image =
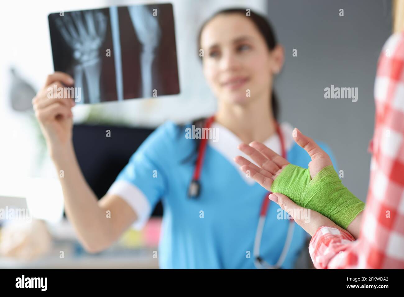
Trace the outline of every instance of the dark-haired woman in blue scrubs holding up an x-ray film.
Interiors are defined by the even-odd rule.
[[[202,26],[199,43],[218,100],[217,113],[202,123],[215,139],[186,137],[194,123],[164,123],[99,201],[72,145],[74,100],[46,96],[48,87],[74,81],[60,72],[47,77],[33,105],[57,172],[65,173],[67,216],[83,247],[96,253],[133,223],[142,228],[161,199],[160,268],[293,268],[307,233],[233,160],[238,144],[255,140],[307,168],[310,157],[293,141],[292,126],[276,121],[273,77],[282,69],[283,48],[265,18],[243,9],[216,13]]]

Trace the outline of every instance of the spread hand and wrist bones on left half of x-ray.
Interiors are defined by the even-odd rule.
[[[71,16],[70,16],[71,15]],[[101,11],[75,11],[56,19],[65,42],[73,50],[75,87],[81,88],[80,100],[87,90],[88,101],[100,102],[101,58],[99,48],[105,39],[107,18]],[[84,86],[84,77],[86,86]]]

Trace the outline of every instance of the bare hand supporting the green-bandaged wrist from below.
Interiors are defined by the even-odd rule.
[[[291,199],[289,199],[289,197],[281,193],[272,193],[271,195],[269,195],[269,199],[271,199],[275,203],[278,203],[278,205],[284,211],[286,211],[293,218],[293,220],[311,236],[314,236],[318,228],[322,226],[338,228],[339,230],[349,233],[347,230],[344,230],[321,213],[318,213],[313,209],[301,207],[293,202]]]

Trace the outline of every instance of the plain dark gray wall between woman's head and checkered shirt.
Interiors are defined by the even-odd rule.
[[[391,34],[391,1],[273,0],[268,9],[286,54],[275,82],[280,120],[326,142],[344,170],[343,184],[364,201],[375,116],[373,86],[377,59]],[[332,84],[357,87],[358,101],[324,99],[324,88]]]

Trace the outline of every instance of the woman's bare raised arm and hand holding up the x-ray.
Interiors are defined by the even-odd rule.
[[[98,201],[88,186],[72,143],[72,107],[74,98],[56,98],[49,88],[72,86],[73,78],[62,72],[48,75],[38,94],[32,99],[36,117],[45,137],[50,157],[57,169],[65,201],[65,211],[78,239],[88,252],[109,247],[137,219],[136,213],[117,195],[107,194]],[[119,213],[107,218],[106,211]]]

